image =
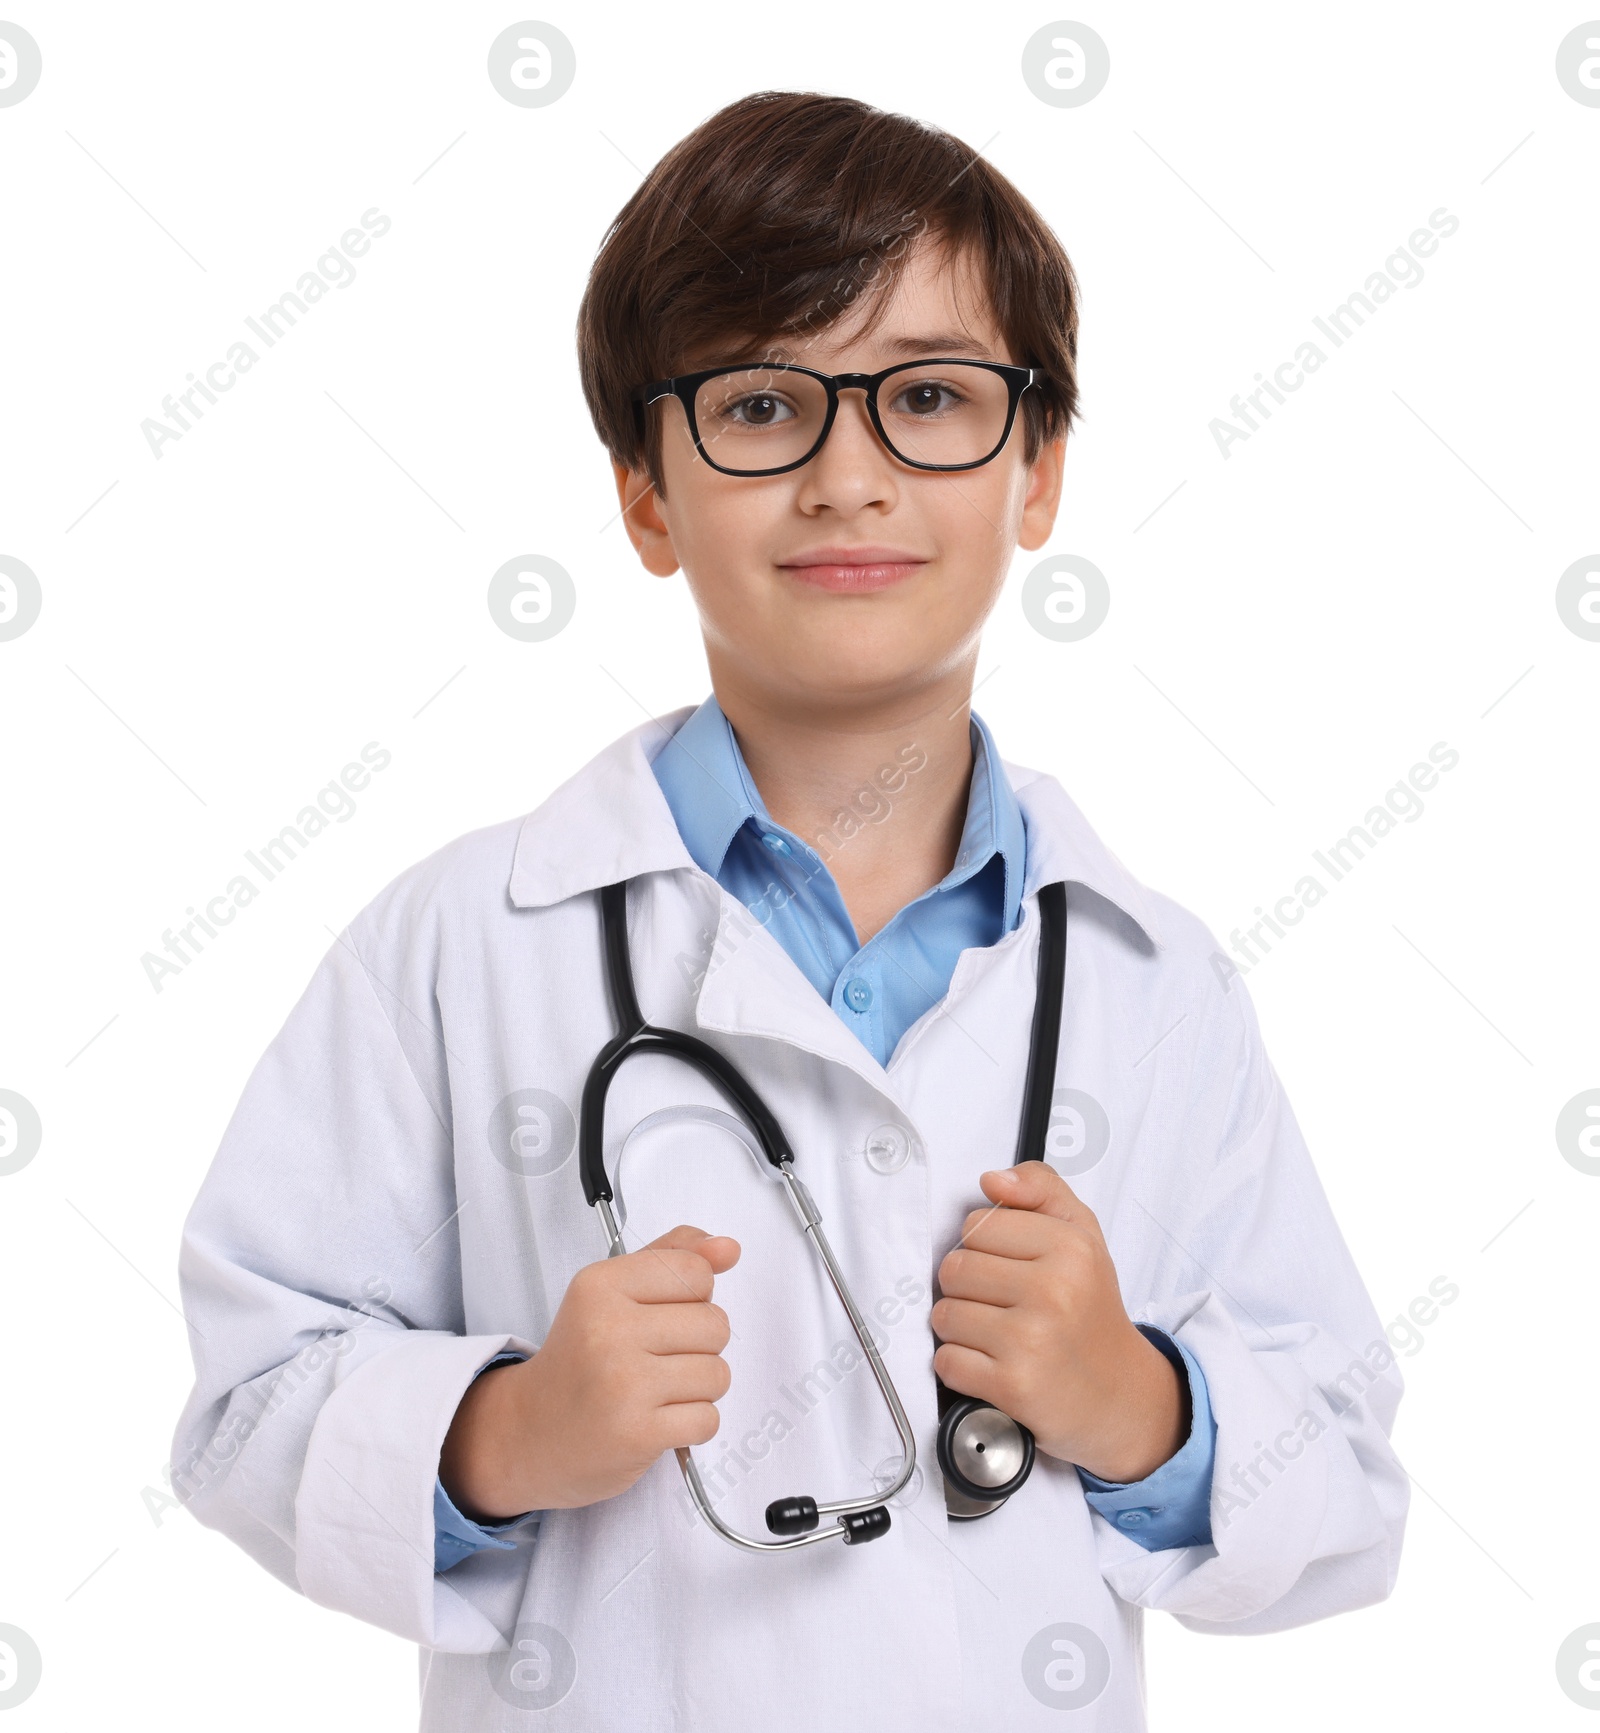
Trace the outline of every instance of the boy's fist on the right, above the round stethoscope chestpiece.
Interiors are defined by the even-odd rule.
[[[1044,1161],[979,1180],[940,1263],[933,1369],[1021,1421],[1047,1456],[1142,1480],[1189,1435],[1189,1392],[1128,1321],[1101,1223]]]

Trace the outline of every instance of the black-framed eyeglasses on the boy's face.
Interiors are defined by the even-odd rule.
[[[1042,381],[1038,369],[1000,360],[936,357],[882,373],[770,362],[654,380],[633,397],[641,430],[647,404],[676,397],[695,451],[723,475],[784,475],[810,463],[839,414],[839,392],[867,393],[877,437],[914,470],[976,470],[998,456],[1023,392]]]

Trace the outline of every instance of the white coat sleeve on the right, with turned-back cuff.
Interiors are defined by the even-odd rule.
[[[1123,1600],[1245,1634],[1383,1600],[1409,1483],[1389,1442],[1401,1374],[1243,983],[1207,1028],[1187,1116],[1203,1178],[1187,1208],[1177,1184],[1130,1208],[1160,1246],[1135,1322],[1182,1343],[1207,1379],[1210,1544],[1148,1553],[1101,1515],[1094,1529]]]

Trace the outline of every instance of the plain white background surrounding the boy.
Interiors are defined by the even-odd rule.
[[[1153,1724],[1584,1724],[1555,1652],[1600,1620],[1600,1178],[1553,1126],[1600,1085],[1600,643],[1555,582],[1600,544],[1600,109],[1555,50],[1590,14],[560,7],[532,16],[577,78],[544,109],[485,75],[504,7],[5,16],[43,52],[0,109],[0,553],[43,587],[0,643],[0,1087],[43,1120],[0,1178],[0,1624],[45,1657],[14,1724],[414,1723],[407,1645],[149,1490],[189,1381],[179,1230],[333,932],[709,690],[681,581],[614,522],[572,326],[641,172],[771,85],[955,132],[1080,272],[1047,553],[1111,613],[1045,639],[1019,556],[978,695],[1007,757],[1226,944],[1460,752],[1248,977],[1382,1317],[1460,1288],[1401,1360],[1399,1587],[1272,1638],[1151,1619]],[[1063,16],[1111,52],[1078,109],[1019,73]],[[140,421],[371,206],[359,277],[153,458]],[[1224,459],[1212,418],[1441,206],[1425,281]],[[522,553],[577,584],[548,643],[485,607]],[[140,957],[369,740],[393,763],[357,815],[156,993]]]

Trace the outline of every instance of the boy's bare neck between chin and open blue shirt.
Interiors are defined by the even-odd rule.
[[[712,664],[768,813],[822,856],[865,944],[955,865],[972,782],[972,664],[915,693],[796,705]]]

